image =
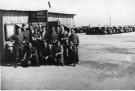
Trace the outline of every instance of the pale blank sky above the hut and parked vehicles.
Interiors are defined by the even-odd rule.
[[[135,25],[135,0],[0,0],[0,9],[52,9],[76,14],[75,25]]]

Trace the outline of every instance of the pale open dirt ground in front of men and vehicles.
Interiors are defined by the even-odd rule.
[[[1,66],[4,90],[135,89],[135,32],[80,37],[80,64],[73,66]]]

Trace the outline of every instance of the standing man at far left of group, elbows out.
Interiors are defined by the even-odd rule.
[[[9,40],[11,42],[14,42],[13,48],[14,48],[14,54],[15,54],[15,68],[17,67],[18,61],[22,59],[23,57],[23,49],[25,39],[28,39],[28,36],[24,35],[24,33],[21,32],[21,28],[18,28],[16,31],[16,34],[13,34],[11,37],[9,37]]]

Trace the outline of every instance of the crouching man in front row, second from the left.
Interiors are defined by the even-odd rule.
[[[40,52],[40,57],[42,59],[41,64],[42,63],[43,64],[51,64],[51,62],[52,62],[52,48],[46,41],[44,41],[44,43],[43,43],[43,48]]]

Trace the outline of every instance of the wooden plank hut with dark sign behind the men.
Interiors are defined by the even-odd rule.
[[[47,27],[54,25],[55,23],[60,24],[70,24],[74,25],[74,16],[75,14],[59,12],[55,10],[3,10],[0,9],[0,61],[6,61],[6,58],[10,58],[8,54],[6,54],[6,50],[11,50],[12,53],[12,43],[7,41],[7,38],[13,34],[13,30],[15,25],[21,26],[22,24],[30,23],[30,13],[31,12],[42,12],[47,11],[44,21]],[[41,18],[39,16],[39,18]],[[35,19],[35,22],[43,22],[42,18],[39,21]],[[7,48],[7,49],[6,49]],[[8,51],[7,51],[8,52]],[[9,52],[8,52],[9,53]]]

